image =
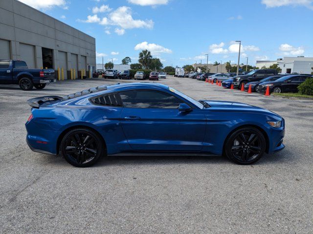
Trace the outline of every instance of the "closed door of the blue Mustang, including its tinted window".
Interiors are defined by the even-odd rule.
[[[156,90],[120,92],[122,129],[131,148],[144,151],[201,151],[205,116],[201,109],[180,112],[184,101]]]

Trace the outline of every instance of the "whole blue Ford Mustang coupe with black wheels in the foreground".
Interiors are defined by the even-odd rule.
[[[116,154],[226,155],[239,164],[282,150],[284,119],[238,102],[196,101],[156,83],[103,85],[27,101],[26,141],[87,167]]]

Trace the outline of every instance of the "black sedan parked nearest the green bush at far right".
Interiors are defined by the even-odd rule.
[[[275,81],[267,81],[260,83],[256,87],[258,93],[266,92],[269,87],[270,93],[288,93],[288,92],[298,92],[298,86],[303,83],[307,78],[312,78],[312,76],[303,75],[291,75],[285,76]]]

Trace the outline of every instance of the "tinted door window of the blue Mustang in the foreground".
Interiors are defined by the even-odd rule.
[[[172,95],[153,90],[131,90],[119,93],[124,107],[177,109],[182,103]]]

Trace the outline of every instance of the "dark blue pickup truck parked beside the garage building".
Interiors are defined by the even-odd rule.
[[[0,60],[0,84],[18,84],[22,90],[31,90],[55,81],[53,69],[30,69],[21,60]]]

